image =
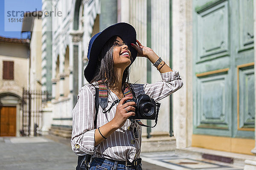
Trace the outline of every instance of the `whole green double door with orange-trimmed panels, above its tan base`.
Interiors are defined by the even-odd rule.
[[[193,0],[193,133],[254,138],[253,0]]]

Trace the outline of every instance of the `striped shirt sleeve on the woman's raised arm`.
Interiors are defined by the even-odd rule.
[[[163,99],[183,86],[183,81],[180,78],[179,71],[173,70],[160,74],[162,81],[155,83],[133,84],[132,87],[136,91],[136,96],[139,94],[147,94],[156,102]]]

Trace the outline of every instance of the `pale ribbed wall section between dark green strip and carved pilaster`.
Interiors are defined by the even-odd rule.
[[[170,23],[169,23],[169,0],[151,0],[151,49],[160,56],[167,65],[170,59]],[[160,72],[151,64],[151,82],[162,80]],[[166,132],[169,134],[169,99],[166,97],[159,102],[160,113],[157,126],[151,129],[151,133]]]

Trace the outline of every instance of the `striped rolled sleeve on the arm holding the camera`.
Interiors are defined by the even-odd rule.
[[[86,85],[79,89],[77,103],[72,111],[73,126],[71,147],[76,155],[92,155],[95,152],[95,93]]]

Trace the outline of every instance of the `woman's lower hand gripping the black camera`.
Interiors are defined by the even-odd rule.
[[[122,127],[128,117],[130,116],[135,116],[135,108],[132,105],[136,105],[135,102],[127,102],[124,104],[124,102],[128,99],[131,99],[131,97],[124,97],[120,100],[119,104],[116,106],[116,115],[115,117],[111,120],[113,122],[113,125],[116,126],[116,128]],[[131,112],[127,112],[131,111]]]

